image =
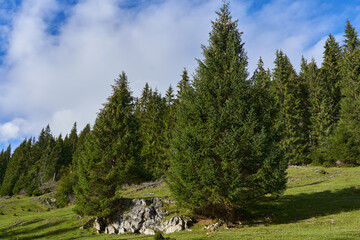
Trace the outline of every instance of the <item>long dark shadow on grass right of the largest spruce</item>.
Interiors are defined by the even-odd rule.
[[[358,209],[360,189],[351,187],[333,192],[285,195],[276,201],[258,206],[255,215],[258,220],[264,219],[267,214],[275,215],[272,223],[284,224]]]

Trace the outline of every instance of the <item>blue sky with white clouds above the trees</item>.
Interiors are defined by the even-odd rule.
[[[208,44],[221,0],[0,0],[0,148],[50,125],[58,136],[93,124],[125,71],[134,96],[146,82],[161,93],[190,74]],[[295,69],[321,66],[331,33],[358,30],[355,0],[230,0],[249,58],[272,69],[277,49]]]

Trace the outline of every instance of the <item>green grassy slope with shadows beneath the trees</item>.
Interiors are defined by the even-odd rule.
[[[252,210],[254,218],[237,228],[169,234],[176,239],[360,239],[360,168],[291,168],[285,194]],[[169,196],[165,185],[131,192],[128,197]],[[34,197],[0,200],[0,239],[153,239],[143,235],[96,234],[80,230],[72,207],[48,211]],[[272,221],[265,221],[274,213]]]

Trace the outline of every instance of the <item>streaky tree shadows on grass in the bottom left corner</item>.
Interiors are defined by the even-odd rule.
[[[58,236],[74,230],[76,227],[54,229],[64,221],[46,222],[47,220],[34,219],[29,222],[12,224],[8,228],[0,229],[0,236],[4,239],[38,239],[44,237]],[[41,222],[44,222],[41,224]],[[35,225],[34,225],[35,224]],[[40,224],[40,225],[39,225]],[[37,234],[41,232],[40,234]]]

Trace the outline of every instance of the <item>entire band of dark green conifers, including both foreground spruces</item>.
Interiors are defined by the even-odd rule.
[[[212,22],[203,60],[190,80],[162,95],[145,85],[135,98],[123,72],[91,128],[54,137],[50,127],[0,153],[0,195],[40,194],[59,181],[65,206],[113,216],[124,184],[166,178],[178,201],[208,216],[234,219],[239,209],[279,195],[288,164],[360,164],[360,42],[346,22],[344,41],[329,35],[323,62],[301,59],[296,72],[276,51],[274,69],[248,59],[228,4]]]

